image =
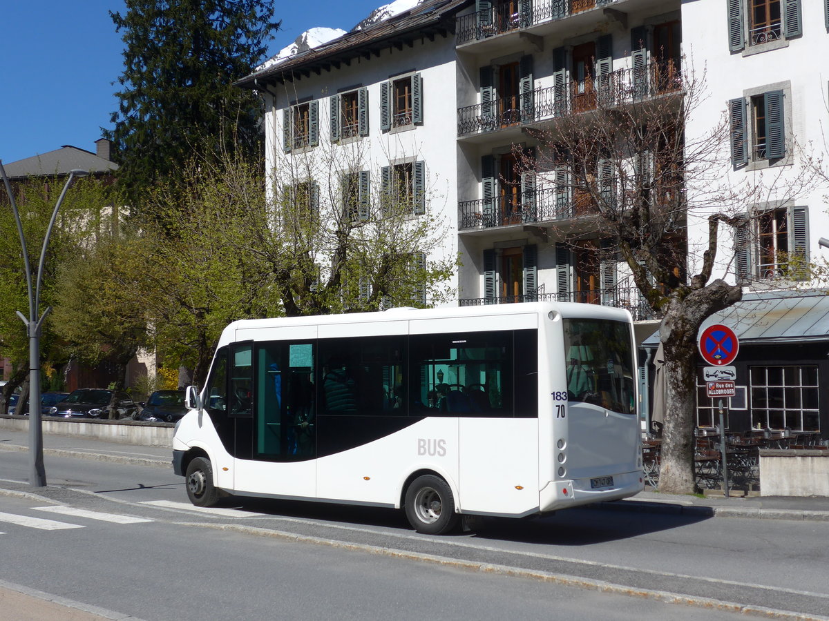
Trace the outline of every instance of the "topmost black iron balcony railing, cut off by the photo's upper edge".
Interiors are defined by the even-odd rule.
[[[492,7],[462,15],[455,20],[456,45],[551,22],[574,13],[613,4],[616,0],[511,0],[492,2]]]

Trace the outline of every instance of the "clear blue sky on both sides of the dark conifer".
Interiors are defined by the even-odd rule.
[[[269,55],[314,26],[348,30],[390,0],[277,0],[282,30]],[[65,144],[95,152],[111,128],[113,93],[124,68],[121,35],[109,11],[123,0],[8,0],[0,19],[0,160],[5,163]],[[264,60],[264,59],[263,59]],[[233,76],[237,78],[240,76]]]

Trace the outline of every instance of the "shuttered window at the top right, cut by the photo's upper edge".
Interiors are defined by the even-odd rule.
[[[768,44],[802,35],[800,5],[801,0],[728,0],[729,50],[748,46],[762,51]]]

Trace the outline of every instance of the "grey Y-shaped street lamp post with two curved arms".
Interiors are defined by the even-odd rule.
[[[49,245],[51,231],[57,219],[57,211],[61,208],[66,190],[69,190],[69,186],[75,177],[82,177],[88,174],[87,171],[77,169],[69,172],[69,178],[66,179],[63,190],[61,190],[61,195],[58,197],[55,209],[52,209],[49,226],[46,228],[46,235],[43,238],[41,259],[37,264],[35,285],[32,286],[32,265],[29,262],[29,253],[26,248],[26,238],[23,235],[20,213],[17,211],[17,203],[14,200],[14,195],[12,195],[12,186],[9,185],[6,169],[3,168],[2,161],[0,161],[0,175],[2,175],[3,184],[6,185],[8,200],[12,204],[12,212],[17,223],[17,234],[20,236],[20,246],[23,251],[23,265],[26,267],[26,286],[29,295],[28,319],[19,310],[17,311],[17,316],[26,325],[27,335],[29,337],[29,463],[31,466],[29,471],[29,484],[32,487],[41,488],[46,485],[46,468],[43,466],[43,426],[41,421],[41,328],[43,326],[43,320],[51,312],[51,306],[48,306],[43,311],[43,315],[38,316],[41,282],[43,281],[43,265],[46,262],[46,247]]]

